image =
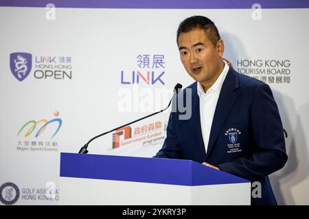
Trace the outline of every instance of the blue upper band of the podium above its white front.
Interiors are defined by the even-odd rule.
[[[170,185],[216,185],[249,181],[185,159],[61,153],[60,177]]]

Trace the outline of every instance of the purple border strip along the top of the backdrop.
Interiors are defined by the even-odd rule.
[[[157,8],[157,9],[244,9],[253,3],[262,8],[309,8],[308,0],[0,0],[0,6],[56,8]]]

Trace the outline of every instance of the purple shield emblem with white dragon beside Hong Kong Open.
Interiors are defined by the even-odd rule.
[[[19,81],[23,81],[32,68],[32,55],[30,53],[10,53],[11,72]]]

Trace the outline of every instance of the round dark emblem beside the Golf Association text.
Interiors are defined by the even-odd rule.
[[[13,205],[19,200],[19,188],[14,183],[4,183],[0,187],[0,201],[5,205]]]

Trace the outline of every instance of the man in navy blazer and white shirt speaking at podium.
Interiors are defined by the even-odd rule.
[[[191,159],[258,181],[262,194],[251,196],[251,205],[276,205],[268,175],[288,157],[271,88],[227,66],[223,41],[209,18],[186,18],[179,25],[177,44],[183,66],[196,81],[177,98],[183,96],[185,103],[191,98],[192,115],[183,120],[181,112],[170,113],[167,137],[155,157]]]

